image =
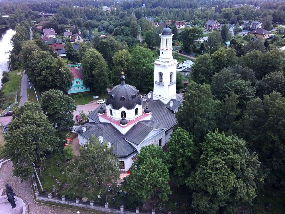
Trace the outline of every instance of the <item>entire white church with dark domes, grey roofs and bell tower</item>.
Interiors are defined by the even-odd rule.
[[[176,94],[176,65],[172,57],[172,32],[164,28],[160,34],[160,56],[154,61],[153,92],[141,98],[139,90],[125,82],[108,92],[105,104],[93,110],[89,122],[78,129],[79,144],[95,136],[99,143],[113,147],[112,153],[127,172],[143,146],[165,146],[177,123],[175,112],[182,104]]]

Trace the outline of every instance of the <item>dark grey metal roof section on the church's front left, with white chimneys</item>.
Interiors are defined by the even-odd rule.
[[[82,127],[86,128],[85,132],[82,132]],[[87,139],[92,135],[97,138],[102,136],[103,142],[110,142],[114,146],[112,153],[115,156],[127,157],[137,152],[131,144],[122,138],[123,134],[110,123],[86,123],[78,129],[78,134]]]

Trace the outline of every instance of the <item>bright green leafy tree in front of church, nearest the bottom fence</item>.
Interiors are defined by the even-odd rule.
[[[166,153],[159,146],[148,145],[141,148],[137,160],[132,164],[129,177],[125,177],[126,191],[131,193],[130,198],[137,201],[146,201],[156,191],[160,191],[159,198],[168,201],[171,194],[168,185],[168,165],[164,162]]]

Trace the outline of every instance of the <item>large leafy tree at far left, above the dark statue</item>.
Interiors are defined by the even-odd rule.
[[[42,177],[46,156],[56,151],[61,143],[54,133],[54,127],[38,104],[26,102],[15,110],[4,146],[13,162],[14,176],[21,177],[22,181],[28,179],[34,173],[34,163]]]

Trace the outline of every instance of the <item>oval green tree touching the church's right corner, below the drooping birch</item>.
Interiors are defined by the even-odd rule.
[[[167,149],[167,162],[174,176],[173,182],[179,187],[190,176],[198,158],[198,150],[192,136],[180,127],[172,132]]]

